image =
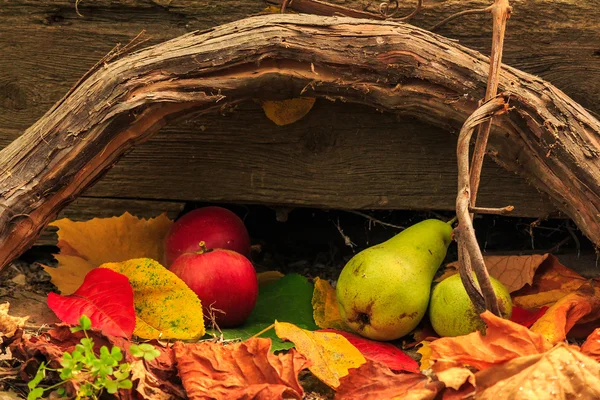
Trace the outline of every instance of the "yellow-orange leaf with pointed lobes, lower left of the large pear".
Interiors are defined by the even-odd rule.
[[[340,378],[348,375],[350,368],[358,368],[366,362],[360,351],[337,333],[311,332],[277,321],[275,332],[281,339],[293,342],[296,350],[312,361],[308,368],[310,372],[334,389],[340,385]]]

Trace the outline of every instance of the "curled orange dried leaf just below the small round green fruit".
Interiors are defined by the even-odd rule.
[[[489,311],[481,314],[481,318],[487,325],[485,336],[477,331],[429,344],[436,371],[442,370],[435,368],[438,363],[447,367],[466,364],[481,370],[513,358],[543,353],[551,347],[542,335]]]

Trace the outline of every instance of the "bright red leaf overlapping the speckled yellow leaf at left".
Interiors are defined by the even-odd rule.
[[[48,307],[70,325],[79,324],[79,318],[86,315],[94,329],[110,336],[131,338],[135,328],[129,279],[108,268],[90,271],[79,289],[69,296],[49,293]]]

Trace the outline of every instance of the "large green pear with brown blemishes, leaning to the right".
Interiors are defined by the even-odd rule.
[[[352,257],[336,286],[344,322],[375,340],[412,331],[427,311],[431,282],[451,241],[450,223],[428,219]]]

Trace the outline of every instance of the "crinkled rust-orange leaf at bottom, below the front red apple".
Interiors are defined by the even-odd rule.
[[[190,399],[301,399],[298,373],[310,362],[294,349],[270,352],[271,339],[224,346],[203,342],[173,346],[179,375]]]

